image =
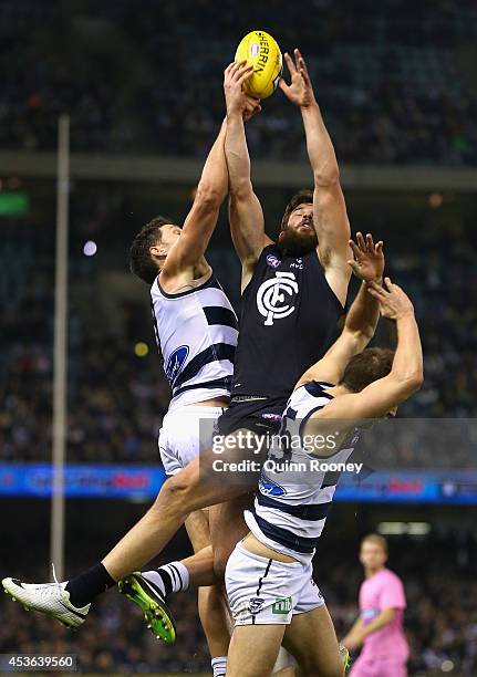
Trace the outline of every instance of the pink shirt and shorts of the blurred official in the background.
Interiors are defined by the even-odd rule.
[[[353,675],[360,675],[360,667],[366,664],[369,670],[371,666],[377,668],[380,677],[406,675],[408,646],[403,629],[406,597],[401,579],[388,569],[366,579],[360,589],[360,617],[365,625],[385,608],[395,608],[397,613],[391,623],[365,638]],[[369,677],[372,675],[374,671],[370,670]]]

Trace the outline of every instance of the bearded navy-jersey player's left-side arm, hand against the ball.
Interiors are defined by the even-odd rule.
[[[260,253],[271,240],[265,233],[263,212],[253,192],[250,178],[250,157],[243,125],[243,107],[247,97],[242,82],[252,69],[243,69],[243,62],[230,64],[224,74],[227,105],[226,160],[229,173],[229,219],[237,254],[242,264],[242,289],[253,274]]]

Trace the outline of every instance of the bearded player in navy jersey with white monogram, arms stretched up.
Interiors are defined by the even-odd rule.
[[[263,212],[250,179],[240,110],[243,94],[225,79],[226,158],[230,227],[242,264],[239,341],[232,398],[219,418],[221,434],[273,431],[304,369],[329,347],[346,301],[351,269],[350,223],[333,144],[324,126],[305,62],[284,54],[291,83],[280,87],[299,107],[314,190],[292,197],[280,219],[278,242],[265,232]],[[218,572],[246,532],[243,499],[212,509]]]

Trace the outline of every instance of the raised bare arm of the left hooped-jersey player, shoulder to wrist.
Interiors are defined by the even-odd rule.
[[[205,254],[217,223],[220,205],[227,195],[228,174],[224,150],[226,129],[227,123],[224,121],[204,165],[182,236],[167,256],[160,273],[163,280],[194,269]]]

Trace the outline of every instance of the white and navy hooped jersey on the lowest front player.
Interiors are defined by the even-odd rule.
[[[340,464],[341,467],[359,439],[353,428],[336,446],[336,451],[326,457],[304,449],[304,426],[313,413],[332,399],[326,395],[330,387],[331,384],[310,382],[292,393],[283,412],[280,435],[300,444],[291,445],[273,464],[269,464],[273,454],[269,456],[253,509],[245,512],[247,525],[259,541],[301,562],[310,561],[315,552],[340,478],[339,471],[321,470],[321,465],[334,468]]]

